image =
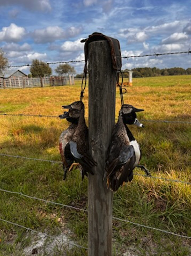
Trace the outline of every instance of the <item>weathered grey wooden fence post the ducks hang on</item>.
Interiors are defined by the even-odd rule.
[[[88,255],[112,255],[112,200],[104,178],[106,153],[115,124],[115,71],[107,41],[89,43],[89,143],[98,163],[88,185]]]

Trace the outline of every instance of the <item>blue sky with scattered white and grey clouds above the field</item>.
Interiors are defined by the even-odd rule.
[[[191,49],[190,0],[0,0],[0,48],[10,65],[84,60],[81,39],[101,32],[122,56]],[[122,59],[122,69],[191,67],[191,54]],[[83,72],[83,62],[74,65]],[[53,72],[57,67],[51,65]],[[28,67],[19,68],[28,74]]]

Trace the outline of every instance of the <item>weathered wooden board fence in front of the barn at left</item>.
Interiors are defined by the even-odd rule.
[[[74,76],[0,78],[0,89],[74,85]]]

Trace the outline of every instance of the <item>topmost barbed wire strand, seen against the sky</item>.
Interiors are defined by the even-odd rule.
[[[154,53],[154,54],[145,54],[145,55],[130,55],[130,56],[124,56],[121,58],[139,58],[139,57],[151,57],[151,56],[163,56],[163,55],[174,55],[174,54],[185,54],[187,53],[188,55],[191,53],[190,49],[188,49],[185,52],[172,52],[172,53]],[[39,64],[23,64],[23,65],[9,65],[6,66],[6,68],[19,68],[19,67],[31,67],[35,65],[50,65],[50,64],[62,64],[62,63],[76,63],[76,62],[84,62],[85,60],[80,60],[80,61],[56,61],[56,62],[46,62],[46,63],[39,63]]]

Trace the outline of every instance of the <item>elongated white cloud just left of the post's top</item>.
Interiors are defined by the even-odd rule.
[[[77,36],[80,32],[82,32],[82,30],[82,26],[71,26],[65,31],[58,26],[48,26],[46,28],[42,28],[41,30],[35,30],[32,33],[32,37],[36,43],[47,43]]]

